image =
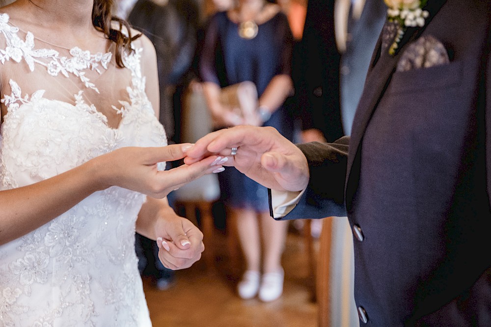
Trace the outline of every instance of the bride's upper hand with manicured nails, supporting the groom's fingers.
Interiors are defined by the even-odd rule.
[[[160,148],[121,148],[94,159],[100,174],[100,189],[120,186],[153,198],[162,199],[171,191],[210,174],[222,166],[217,156],[210,156],[191,165],[159,171],[157,163],[174,161],[186,156],[191,144],[174,144]]]

